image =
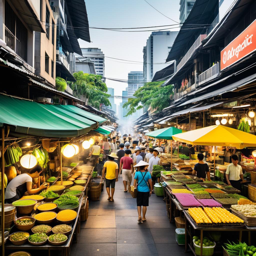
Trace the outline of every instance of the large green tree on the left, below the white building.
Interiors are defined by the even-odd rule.
[[[73,77],[77,80],[71,85],[71,89],[76,91],[80,99],[88,99],[88,103],[94,108],[100,109],[100,105],[111,106],[109,101],[108,88],[102,82],[102,76],[95,74],[87,74],[83,71],[73,73]]]

